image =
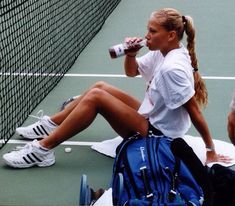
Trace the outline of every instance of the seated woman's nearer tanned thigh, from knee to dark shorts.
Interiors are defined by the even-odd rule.
[[[87,93],[82,101],[92,100],[100,113],[111,127],[122,137],[139,132],[142,136],[148,133],[148,121],[135,108],[126,104],[109,92],[94,88]],[[82,103],[81,101],[81,103]]]

